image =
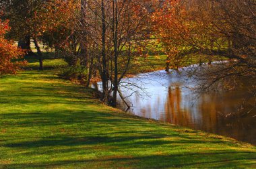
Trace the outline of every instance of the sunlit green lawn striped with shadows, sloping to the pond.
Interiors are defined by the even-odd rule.
[[[255,168],[256,148],[134,117],[52,71],[0,78],[0,168]]]

